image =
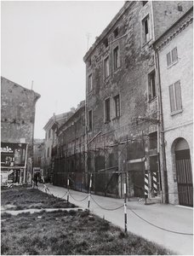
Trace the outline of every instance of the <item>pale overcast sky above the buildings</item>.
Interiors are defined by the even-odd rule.
[[[106,28],[123,1],[3,1],[1,74],[41,95],[35,137],[53,113],[85,98],[87,44]],[[89,41],[87,34],[90,34]],[[88,42],[88,43],[87,43]]]

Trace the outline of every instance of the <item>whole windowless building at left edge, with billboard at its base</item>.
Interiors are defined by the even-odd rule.
[[[1,78],[2,178],[31,183],[35,106],[40,95]],[[9,174],[9,175],[8,175]]]

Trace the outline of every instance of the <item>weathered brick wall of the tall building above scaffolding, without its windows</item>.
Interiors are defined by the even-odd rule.
[[[86,102],[88,111],[93,111],[93,131],[88,132],[88,140],[101,131],[90,145],[90,149],[103,147],[118,141],[134,138],[142,143],[142,131],[145,135],[157,131],[157,125],[149,121],[136,121],[139,116],[157,119],[157,97],[149,101],[148,74],[155,68],[154,52],[151,49],[153,34],[158,37],[174,20],[186,11],[190,3],[182,3],[183,10],[177,11],[178,3],[151,1],[143,6],[142,2],[128,2],[111,21],[110,25],[102,32],[99,38],[88,50],[84,57],[86,62]],[[152,10],[154,11],[154,27]],[[167,12],[166,12],[167,10]],[[170,15],[168,14],[170,13]],[[168,18],[165,18],[168,15]],[[143,20],[149,18],[150,40],[144,44]],[[118,27],[118,37],[114,38],[114,30]],[[155,28],[155,31],[154,31]],[[105,38],[109,45],[104,45]],[[113,50],[118,46],[120,55],[120,67],[113,69]],[[105,79],[104,60],[109,56],[110,76]],[[91,62],[91,65],[90,65]],[[93,76],[93,89],[88,92],[88,76]],[[113,97],[120,95],[121,116],[114,118]],[[104,102],[107,97],[111,99],[111,121],[105,124]],[[103,135],[104,134],[104,135]],[[149,170],[149,143],[145,139],[145,167]],[[140,152],[131,145],[136,158],[142,157]],[[125,149],[118,153],[119,170],[125,170]]]

